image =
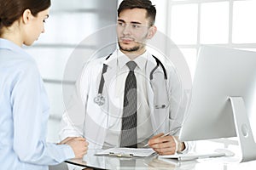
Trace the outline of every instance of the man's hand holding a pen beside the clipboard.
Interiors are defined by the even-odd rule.
[[[176,136],[163,135],[164,133],[159,133],[148,140],[148,145],[160,156],[173,155],[185,149],[185,144],[180,142]]]

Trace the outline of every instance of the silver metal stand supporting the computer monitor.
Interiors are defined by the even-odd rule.
[[[234,122],[236,126],[236,135],[241,147],[241,160],[256,160],[256,144],[253,139],[253,132],[247,116],[244,101],[241,97],[230,97]]]

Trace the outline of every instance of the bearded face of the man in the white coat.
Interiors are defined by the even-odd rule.
[[[143,54],[146,40],[154,36],[155,26],[149,26],[146,14],[143,8],[125,9],[119,14],[117,34],[124,54]]]

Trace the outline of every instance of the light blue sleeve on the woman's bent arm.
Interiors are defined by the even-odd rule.
[[[67,144],[45,141],[49,102],[43,81],[34,61],[18,66],[11,92],[14,119],[14,150],[20,161],[38,165],[55,165],[74,157]]]

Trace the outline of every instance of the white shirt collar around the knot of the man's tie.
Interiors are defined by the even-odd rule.
[[[121,52],[120,50],[118,50],[117,52],[118,54],[118,65],[119,65],[119,69],[123,68],[127,62],[129,62],[131,59],[129,59],[129,57],[127,57],[123,52]],[[147,60],[148,60],[148,51],[146,51],[145,53],[143,53],[142,55],[138,56],[136,59],[134,59],[133,61],[136,62],[137,67],[140,70],[143,70],[147,64]],[[127,67],[128,68],[128,67]]]

